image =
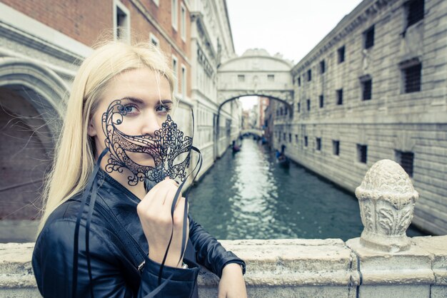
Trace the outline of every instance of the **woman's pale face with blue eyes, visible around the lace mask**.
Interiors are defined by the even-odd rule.
[[[102,115],[109,105],[120,100],[126,109],[123,121],[117,126],[126,135],[154,135],[161,128],[173,106],[169,81],[149,68],[137,68],[120,73],[110,81],[89,124],[89,135],[94,138],[96,154],[106,145],[102,130]],[[151,155],[128,153],[140,165],[154,166]],[[97,158],[97,156],[96,156]]]

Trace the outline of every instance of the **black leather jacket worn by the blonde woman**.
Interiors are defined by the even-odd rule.
[[[160,264],[147,257],[148,245],[136,213],[139,199],[104,171],[99,171],[98,178],[89,229],[94,297],[144,297],[158,285]],[[80,198],[81,195],[76,195],[54,210],[36,240],[32,264],[44,297],[71,297],[74,230]],[[142,262],[144,267],[139,269]],[[228,263],[236,262],[245,267],[241,259],[227,252],[191,217],[184,262],[189,269],[164,267],[162,281],[174,275],[156,297],[198,297],[199,266],[196,262],[219,277]],[[91,297],[82,221],[77,275],[76,297]]]

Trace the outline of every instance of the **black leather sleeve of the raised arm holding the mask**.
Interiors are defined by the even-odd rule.
[[[44,297],[72,297],[73,252],[75,222],[52,222],[41,232],[34,247],[32,264],[39,291]],[[85,229],[79,229],[79,266],[76,297],[91,297],[86,262]],[[131,287],[126,279],[124,257],[114,252],[114,246],[93,230],[90,231],[92,290],[94,297],[145,297],[158,286],[160,265],[146,258],[139,289]],[[120,260],[121,259],[121,260]],[[191,269],[164,267],[162,282],[171,279],[161,290],[163,297],[190,297],[199,274],[199,267]]]

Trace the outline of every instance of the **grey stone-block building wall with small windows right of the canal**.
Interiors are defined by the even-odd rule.
[[[293,160],[351,191],[377,160],[402,164],[402,156],[411,160],[412,153],[412,179],[421,195],[413,223],[444,235],[447,2],[419,1],[423,17],[408,26],[409,7],[416,2],[363,1],[293,67],[293,119],[276,119],[274,146],[287,145]],[[368,47],[372,28],[373,45]],[[406,69],[418,64],[420,90],[406,92],[412,88],[406,87]],[[368,81],[372,92],[364,99]],[[338,155],[333,141],[339,142]],[[366,160],[361,160],[365,149]]]

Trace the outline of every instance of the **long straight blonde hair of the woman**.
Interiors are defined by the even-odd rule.
[[[151,43],[129,45],[114,41],[96,48],[79,67],[71,87],[53,168],[44,188],[45,206],[39,232],[56,207],[86,187],[95,163],[94,143],[87,135],[91,116],[111,79],[136,68],[150,68],[167,78],[175,100],[174,76],[169,63]]]

